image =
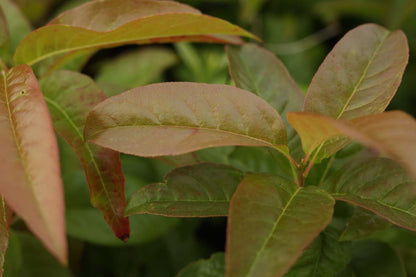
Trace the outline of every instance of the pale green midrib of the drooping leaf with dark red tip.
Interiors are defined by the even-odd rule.
[[[70,126],[75,130],[75,133],[77,134],[77,136],[80,138],[80,140],[83,142],[83,146],[84,148],[87,150],[88,155],[91,158],[92,164],[94,166],[95,171],[97,172],[97,175],[99,176],[100,179],[100,183],[102,185],[102,188],[105,192],[105,195],[107,196],[107,199],[109,200],[108,202],[110,203],[110,207],[111,207],[111,211],[113,212],[113,214],[115,214],[117,217],[119,217],[119,214],[116,212],[114,204],[112,201],[110,201],[110,195],[109,192],[107,190],[107,187],[105,185],[104,179],[101,175],[101,171],[98,168],[98,164],[94,158],[94,155],[92,153],[91,148],[89,147],[88,143],[84,141],[84,136],[82,135],[81,131],[79,130],[79,128],[77,127],[77,125],[72,121],[71,117],[68,115],[68,113],[55,101],[53,101],[52,99],[44,96],[45,101],[48,102],[49,104],[53,105],[63,116],[64,118],[69,122]]]

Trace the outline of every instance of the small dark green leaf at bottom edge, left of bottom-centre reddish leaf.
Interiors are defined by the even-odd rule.
[[[175,277],[223,277],[225,273],[224,253],[215,253],[209,259],[189,264]]]

